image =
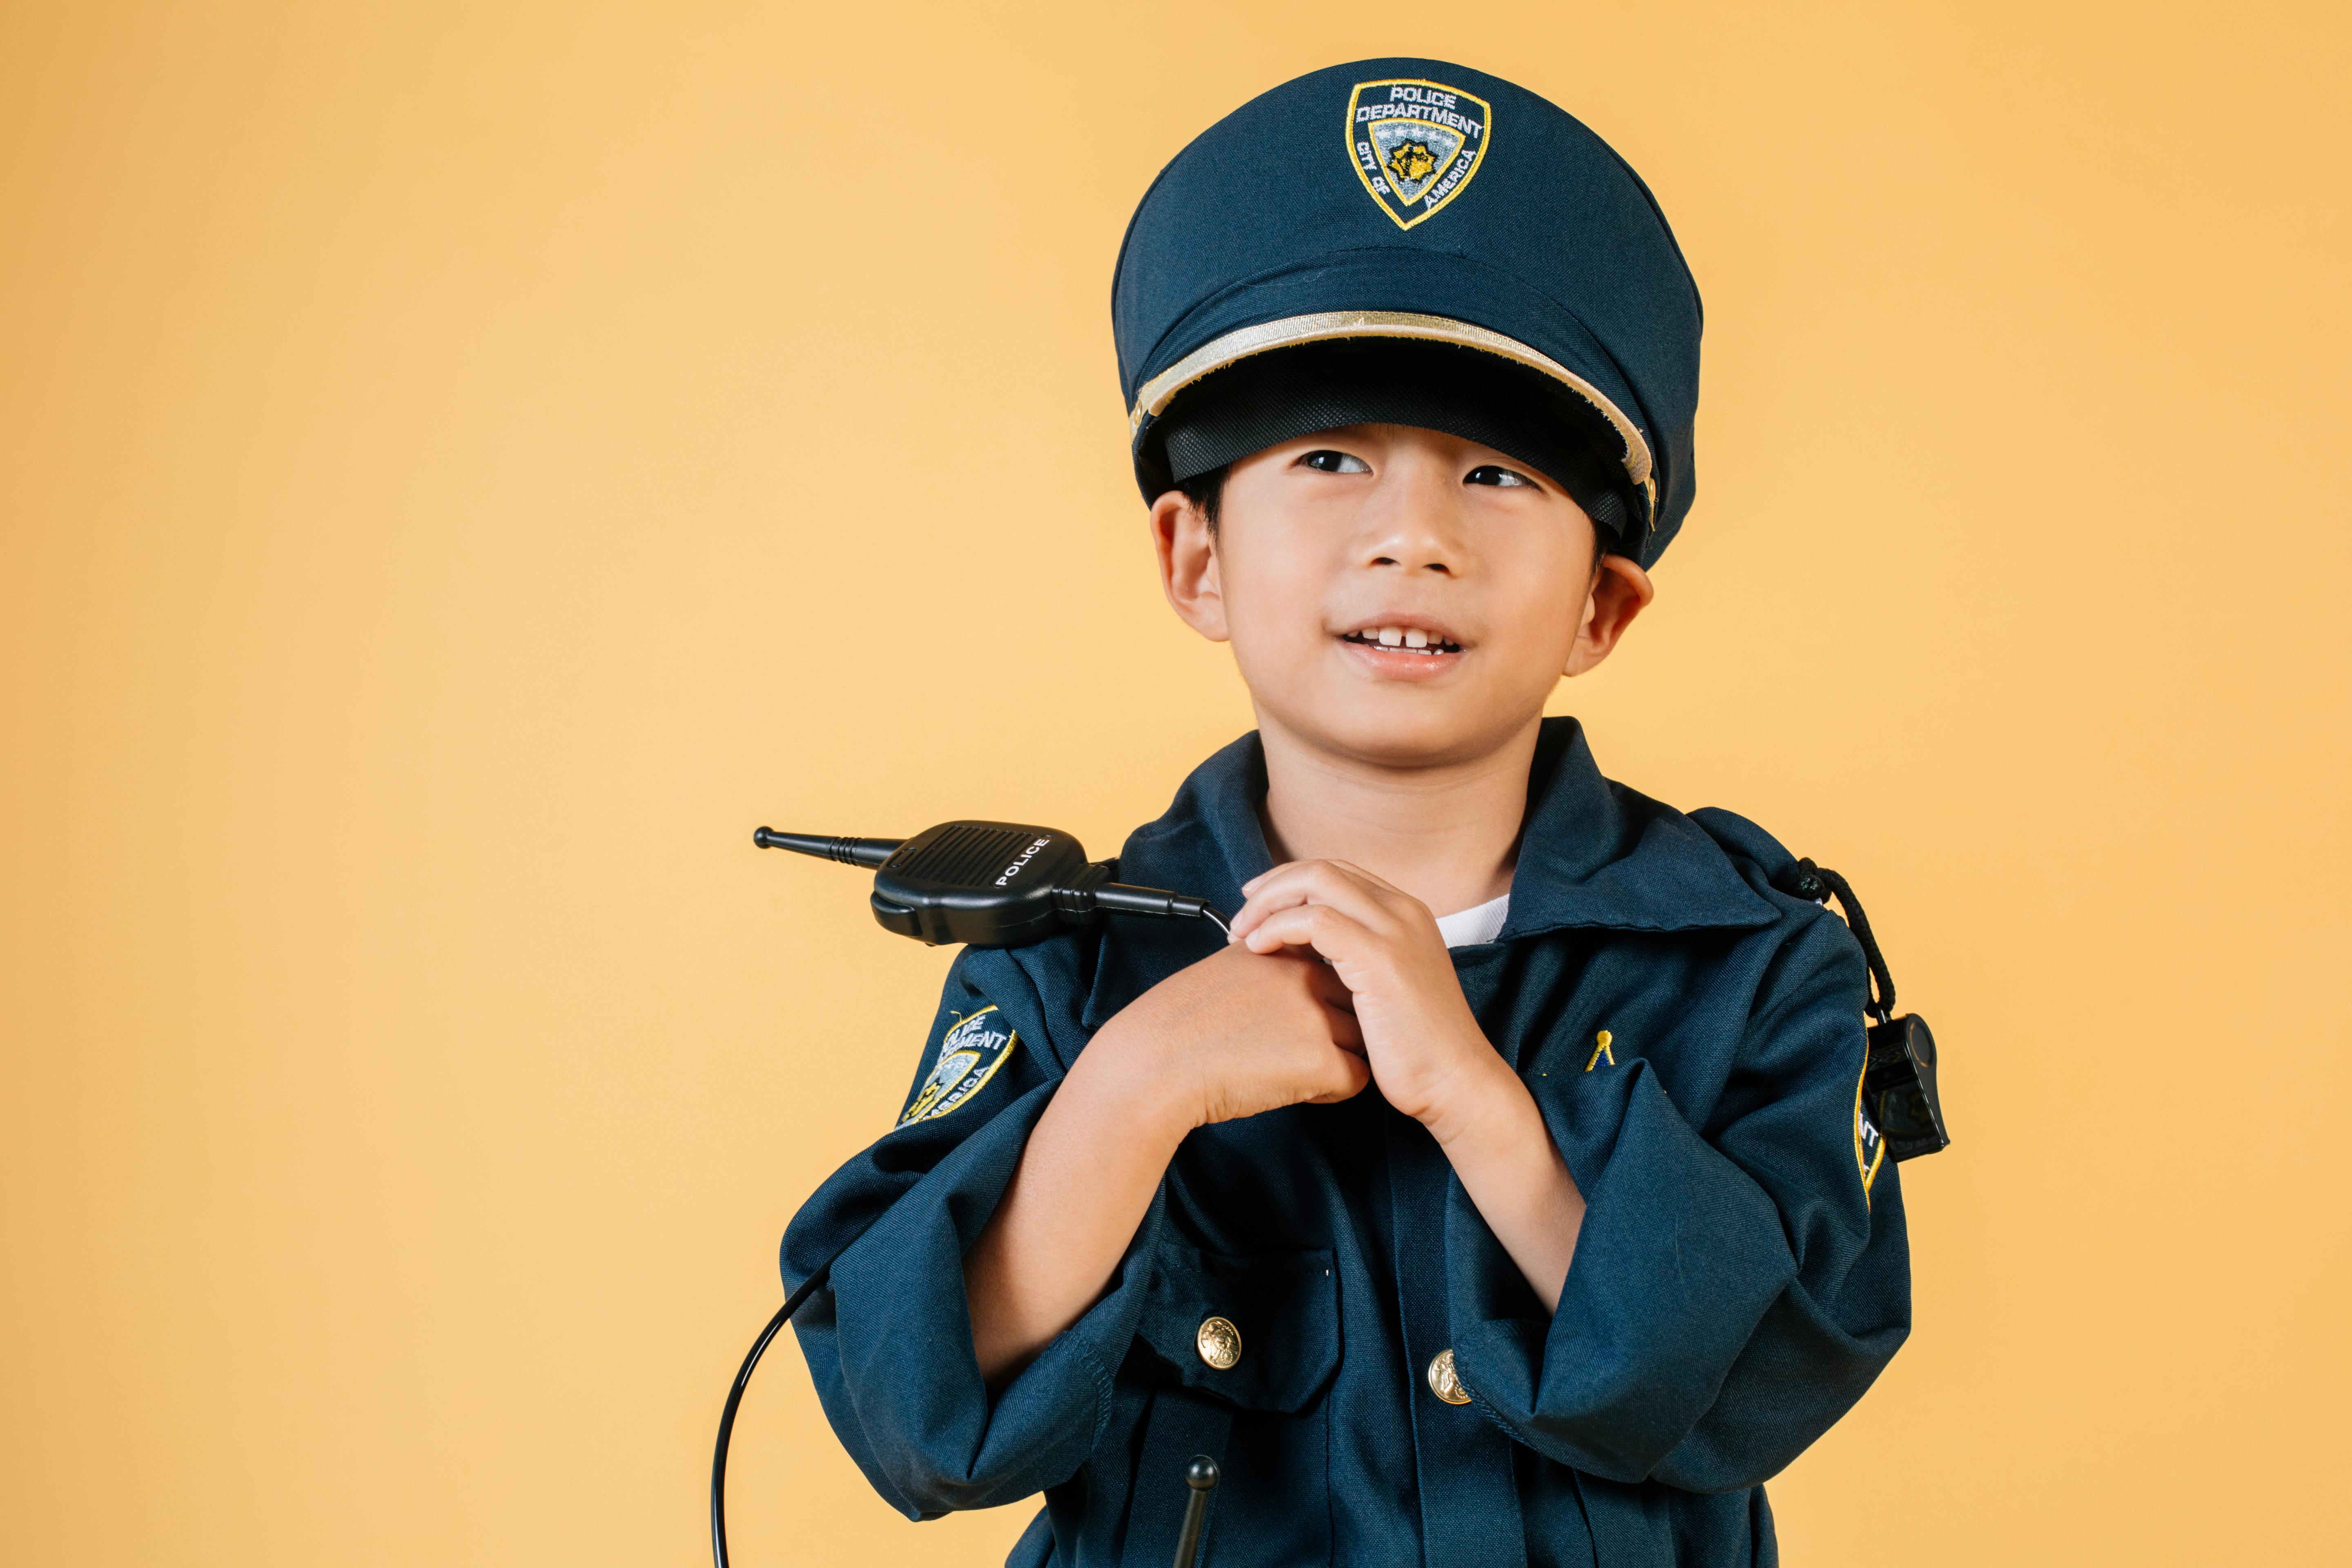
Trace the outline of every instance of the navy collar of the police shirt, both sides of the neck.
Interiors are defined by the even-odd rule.
[[[1501,943],[1562,929],[1705,931],[1778,919],[1698,823],[1602,778],[1576,719],[1543,722],[1526,797]],[[1127,839],[1120,882],[1240,910],[1242,884],[1275,863],[1258,823],[1263,799],[1265,748],[1251,731],[1200,764],[1167,816]],[[1103,940],[1087,997],[1089,1030],[1216,938],[1197,922],[1112,919],[1115,940]]]

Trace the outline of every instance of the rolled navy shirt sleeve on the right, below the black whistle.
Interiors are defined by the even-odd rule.
[[[1642,1060],[1550,1098],[1585,1220],[1548,1324],[1456,1182],[1456,1361],[1512,1436],[1611,1481],[1733,1490],[1879,1375],[1910,1333],[1910,1251],[1858,1124],[1863,985],[1844,924],[1811,919],[1757,987],[1708,1135]]]

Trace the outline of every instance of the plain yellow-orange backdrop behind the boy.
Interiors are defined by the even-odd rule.
[[[755,823],[1098,853],[1249,722],[1108,341],[1152,172],[1425,52],[1708,299],[1602,764],[1945,1046],[1790,1563],[2347,1549],[2324,5],[0,5],[0,1559],[694,1563],[948,964]],[[736,1556],[990,1563],[776,1354]]]

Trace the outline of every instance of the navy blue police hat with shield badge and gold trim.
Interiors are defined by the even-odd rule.
[[[1348,423],[1559,482],[1653,564],[1691,510],[1698,284],[1649,186],[1468,66],[1331,66],[1232,110],[1136,207],[1110,287],[1145,501]]]

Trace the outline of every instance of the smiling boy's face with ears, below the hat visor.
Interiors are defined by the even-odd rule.
[[[1378,766],[1494,755],[1651,599],[1557,484],[1437,430],[1350,425],[1244,458],[1218,529],[1152,505],[1169,604],[1232,642],[1258,719]]]

